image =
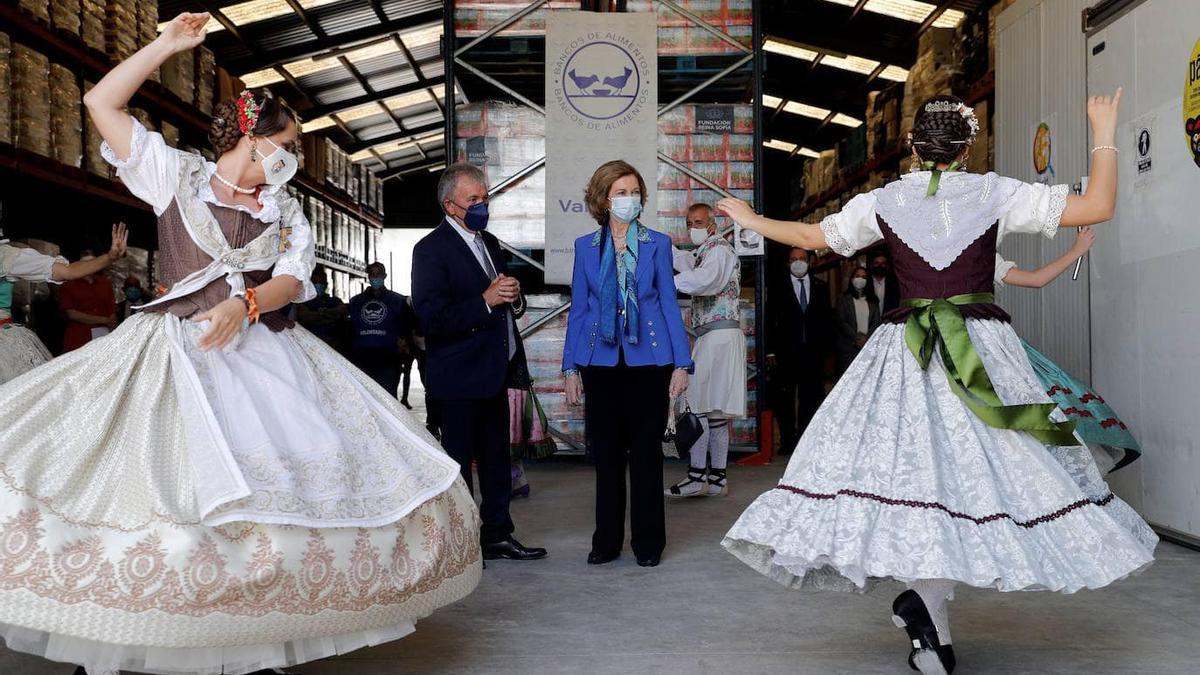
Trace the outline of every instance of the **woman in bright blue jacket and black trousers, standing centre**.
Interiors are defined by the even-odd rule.
[[[671,239],[642,225],[646,181],[624,161],[588,181],[600,225],[575,240],[563,375],[566,402],[584,405],[596,464],[596,528],[589,565],[616,560],[625,540],[629,458],[630,546],[654,567],[666,545],[662,432],[670,398],[688,389],[692,363],[676,301]]]

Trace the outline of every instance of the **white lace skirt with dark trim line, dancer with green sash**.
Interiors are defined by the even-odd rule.
[[[1009,324],[967,329],[1001,400],[1050,401]],[[779,486],[726,534],[733,555],[787,586],[846,591],[893,578],[1074,592],[1153,561],[1157,536],[1085,447],[985,425],[904,334],[886,324],[870,339]]]

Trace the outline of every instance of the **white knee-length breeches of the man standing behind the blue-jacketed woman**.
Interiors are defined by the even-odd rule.
[[[746,339],[740,328],[701,335],[691,350],[696,371],[688,382],[688,405],[695,413],[746,414]]]

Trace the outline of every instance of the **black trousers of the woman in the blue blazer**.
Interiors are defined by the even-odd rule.
[[[666,546],[662,432],[670,366],[584,368],[584,418],[596,465],[596,528],[592,550],[617,554],[625,543],[625,465],[629,465],[630,546],[640,557]]]

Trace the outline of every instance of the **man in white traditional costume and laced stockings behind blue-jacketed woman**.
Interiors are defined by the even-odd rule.
[[[746,341],[738,305],[742,262],[733,245],[718,234],[709,204],[688,209],[688,235],[696,247],[673,249],[674,283],[691,295],[696,375],[688,386],[688,405],[704,432],[691,447],[688,474],[667,488],[668,497],[725,494],[730,420],[744,417],[746,410]]]

